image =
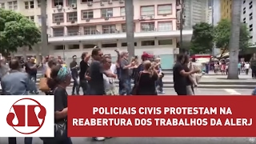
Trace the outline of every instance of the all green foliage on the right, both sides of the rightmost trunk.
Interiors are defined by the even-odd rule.
[[[222,19],[217,26],[211,26],[201,22],[193,26],[193,35],[190,43],[190,50],[194,53],[206,53],[211,51],[213,43],[216,47],[228,50],[231,34],[231,22]],[[250,32],[246,24],[242,23],[240,28],[239,49],[245,50],[249,46]]]

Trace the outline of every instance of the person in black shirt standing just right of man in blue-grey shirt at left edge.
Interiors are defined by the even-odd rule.
[[[36,86],[37,82],[37,73],[38,73],[38,65],[34,62],[34,57],[30,58],[29,62],[26,62],[26,73],[30,78],[30,93],[31,94],[39,94],[38,88]]]

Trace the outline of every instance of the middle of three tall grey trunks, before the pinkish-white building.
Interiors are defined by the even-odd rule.
[[[127,51],[130,54],[129,60],[131,60],[134,56],[134,0],[126,0],[125,4]]]

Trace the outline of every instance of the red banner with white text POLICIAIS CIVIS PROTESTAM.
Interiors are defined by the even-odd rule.
[[[254,96],[70,96],[68,97],[68,135],[70,137],[255,137],[255,103]],[[110,114],[114,107],[117,109],[116,112],[120,111],[123,114]],[[188,108],[184,110],[184,114],[178,114],[178,110],[186,107]],[[206,108],[210,110],[212,107],[212,114],[190,114],[195,109],[200,110],[200,107],[202,111]],[[133,114],[134,109],[136,114]],[[161,114],[159,109],[162,111]],[[144,114],[139,114],[139,110]],[[166,114],[164,114],[165,110]],[[170,114],[168,110],[176,110],[176,114]],[[220,114],[221,110],[225,114]],[[110,126],[109,118],[126,121],[124,125],[129,124],[130,119],[132,126]],[[94,120],[99,124],[106,122],[109,126],[94,126]],[[135,121],[140,122],[141,125],[136,126]],[[158,126],[156,126],[157,121]],[[211,121],[218,121],[218,124],[221,122],[222,126],[211,126]],[[206,126],[203,126],[205,124]]]

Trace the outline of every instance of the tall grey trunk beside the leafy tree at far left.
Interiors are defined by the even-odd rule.
[[[49,55],[46,16],[46,0],[41,0],[41,54],[43,57]]]

